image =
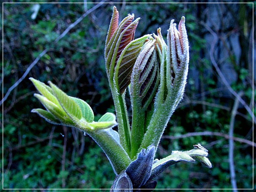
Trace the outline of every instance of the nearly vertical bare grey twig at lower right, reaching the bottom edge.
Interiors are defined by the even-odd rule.
[[[239,92],[238,95],[241,97],[243,92]],[[236,118],[236,111],[239,106],[239,100],[236,98],[232,112],[231,112],[231,118],[230,118],[230,124],[229,124],[229,137],[233,137],[234,134],[234,124],[235,124],[235,118]],[[228,139],[229,143],[229,149],[228,149],[228,161],[229,161],[229,170],[230,170],[230,180],[231,185],[234,192],[237,192],[237,185],[236,185],[236,172],[235,172],[235,164],[234,164],[234,140]]]

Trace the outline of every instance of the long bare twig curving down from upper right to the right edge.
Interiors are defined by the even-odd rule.
[[[247,110],[247,112],[250,114],[250,116],[252,117],[253,122],[256,124],[256,117],[254,116],[254,114],[252,113],[252,110],[249,108],[249,106],[245,103],[245,101],[232,89],[232,87],[228,84],[228,81],[226,80],[225,76],[223,75],[223,73],[221,72],[218,64],[216,63],[213,53],[214,53],[214,47],[215,44],[217,43],[218,40],[218,36],[217,34],[208,26],[206,25],[204,22],[201,22],[201,24],[213,35],[213,41],[211,44],[211,52],[210,52],[210,58],[212,61],[212,64],[214,66],[214,68],[216,69],[218,75],[220,76],[220,79],[222,80],[222,82],[226,85],[226,87],[228,88],[228,90],[239,100],[239,102],[244,106],[244,108]]]

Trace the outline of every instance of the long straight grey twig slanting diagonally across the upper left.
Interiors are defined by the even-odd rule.
[[[70,29],[72,29],[73,27],[75,27],[81,20],[84,19],[84,17],[86,17],[88,14],[90,14],[91,12],[93,12],[94,10],[96,10],[97,8],[99,8],[106,0],[102,0],[99,4],[95,5],[94,7],[92,7],[91,9],[89,9],[87,12],[85,12],[79,19],[77,19],[74,23],[72,23],[71,25],[68,26],[68,28],[60,35],[58,36],[55,40],[54,40],[54,44],[56,44],[62,37],[64,37],[68,31]],[[5,94],[4,98],[0,101],[0,105],[3,104],[3,102],[8,98],[8,96],[10,95],[10,93],[12,92],[12,90],[17,87],[20,82],[25,79],[25,77],[28,75],[29,71],[36,65],[36,63],[40,60],[41,57],[44,56],[44,54],[46,52],[48,52],[49,48],[46,48],[43,52],[40,53],[40,55],[37,56],[36,60],[34,60],[30,66],[27,68],[27,70],[25,71],[25,73],[22,75],[22,77],[20,77],[20,79],[14,83],[7,91],[7,93]]]

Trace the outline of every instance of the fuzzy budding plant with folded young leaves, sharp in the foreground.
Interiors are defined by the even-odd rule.
[[[186,85],[189,50],[185,17],[181,18],[178,29],[171,21],[167,44],[161,28],[157,34],[134,39],[140,18],[134,20],[134,15],[128,14],[120,24],[118,19],[119,12],[114,6],[104,55],[116,116],[106,113],[95,122],[92,108],[84,100],[68,96],[50,81],[47,86],[30,78],[40,92],[34,96],[46,108],[32,112],[52,124],[76,127],[90,135],[107,155],[116,174],[113,191],[152,191],[157,183],[153,179],[180,161],[198,159],[211,168],[208,150],[199,143],[192,150],[173,151],[170,156],[155,159],[164,129]],[[124,99],[127,87],[131,124]],[[118,132],[112,129],[116,125]]]

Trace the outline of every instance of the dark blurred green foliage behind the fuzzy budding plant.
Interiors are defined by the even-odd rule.
[[[111,165],[89,136],[74,128],[52,125],[30,113],[31,109],[43,106],[33,97],[36,89],[28,78],[34,77],[44,83],[50,80],[68,95],[87,101],[96,120],[105,112],[114,112],[103,57],[113,5],[119,10],[120,19],[128,13],[141,17],[135,38],[156,33],[161,27],[166,39],[170,21],[175,19],[178,23],[181,16],[186,17],[190,46],[188,84],[184,99],[164,132],[156,157],[168,156],[172,150],[192,149],[192,145],[200,142],[209,150],[213,168],[205,168],[199,162],[175,164],[156,178],[156,188],[230,191],[228,133],[231,123],[234,123],[234,137],[244,139],[234,141],[237,187],[253,188],[252,117],[240,104],[233,110],[235,119],[231,118],[236,98],[212,65],[213,37],[208,30],[210,28],[218,37],[213,52],[215,61],[228,84],[234,91],[242,91],[242,99],[252,110],[255,97],[252,95],[255,86],[255,79],[252,79],[252,4],[219,4],[216,1],[211,1],[214,4],[161,3],[164,1],[134,4],[138,2],[135,0],[119,4],[105,1],[106,4],[54,43],[71,23],[96,4],[75,4],[72,2],[78,1],[73,0],[67,4],[60,4],[67,2],[65,0],[44,4],[45,1],[39,0],[37,2],[42,4],[39,4],[36,18],[32,19],[35,4],[27,4],[29,0],[20,2],[25,4],[3,4],[3,94],[44,49],[49,51],[3,104],[4,167],[1,174],[4,188],[44,191],[46,188],[111,187],[115,179]],[[127,105],[131,111],[129,95]],[[208,132],[208,135],[199,135],[200,132]],[[209,135],[212,132],[220,134]],[[103,189],[101,191],[108,191]]]

